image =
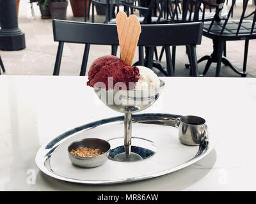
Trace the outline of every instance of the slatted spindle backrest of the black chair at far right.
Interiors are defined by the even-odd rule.
[[[244,1],[243,1],[244,4],[243,4],[243,9],[242,9],[242,11],[241,11],[241,16],[240,16],[240,18],[239,18],[239,21],[236,23],[237,26],[234,27],[234,31],[235,31],[235,32],[232,32],[232,33],[234,33],[234,34],[236,34],[236,35],[241,34],[240,31],[241,31],[241,25],[243,24],[243,20],[244,20],[245,18],[248,18],[248,17],[252,16],[252,15],[253,15],[252,22],[248,22],[248,25],[246,25],[246,29],[250,29],[250,34],[253,34],[253,33],[254,33],[254,30],[255,30],[255,21],[256,21],[256,7],[255,7],[255,10],[254,10],[250,15],[247,15],[247,16],[246,16],[245,13],[246,13],[246,8],[247,8],[247,5],[248,5],[248,1],[249,1],[249,0],[244,0]],[[205,4],[205,1],[202,1],[202,3]],[[220,13],[221,13],[221,10],[222,10],[222,8],[223,8],[224,3],[225,3],[225,0],[220,0],[220,3],[216,4],[216,13],[215,13],[215,15],[214,15],[214,18],[213,18],[212,21],[211,21],[210,26],[209,26],[208,29],[207,29],[207,32],[210,32],[210,31],[211,31],[212,25],[214,25],[214,22],[220,22],[221,20],[223,20],[223,23],[218,24],[218,25],[220,26],[220,28],[221,28],[220,34],[222,35],[223,32],[225,31],[225,28],[226,28],[228,22],[230,21],[230,16],[231,16],[231,14],[232,14],[232,11],[234,10],[234,6],[235,6],[235,4],[236,4],[236,0],[232,0],[232,4],[231,4],[230,9],[229,9],[229,11],[228,11],[227,17],[224,18],[224,19],[221,19],[221,18],[220,18]],[[249,26],[249,27],[248,27],[248,26]],[[243,34],[243,33],[242,33],[242,34]]]

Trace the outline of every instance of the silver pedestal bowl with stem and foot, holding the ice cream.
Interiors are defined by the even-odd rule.
[[[140,112],[151,106],[163,91],[164,82],[160,80],[159,87],[148,90],[115,90],[94,88],[99,99],[109,108],[124,113],[124,150],[117,154],[115,161],[139,161],[142,157],[131,152],[132,113]]]

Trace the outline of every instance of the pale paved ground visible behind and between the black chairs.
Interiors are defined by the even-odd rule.
[[[249,3],[249,10],[254,7],[252,2]],[[25,0],[20,1],[19,10],[19,27],[26,35],[26,48],[19,51],[0,51],[1,57],[6,68],[4,75],[52,75],[58,43],[53,41],[52,37],[52,20],[42,20],[38,6],[34,4],[35,18],[31,18],[30,5]],[[241,12],[241,3],[237,3],[236,15]],[[68,5],[67,20],[83,21],[83,18],[74,18],[72,10]],[[104,16],[97,16],[95,22],[103,22]],[[83,57],[84,45],[66,43],[63,50],[63,58],[61,62],[60,75],[79,75],[81,60]],[[159,52],[161,48],[158,48]],[[244,41],[229,41],[227,43],[228,59],[241,69],[243,66],[243,49]],[[198,59],[205,54],[211,54],[212,41],[204,38],[202,45],[196,48]],[[90,57],[88,59],[88,67],[97,57],[101,55],[111,54],[111,48],[108,46],[92,45]],[[188,61],[185,48],[177,47],[176,54],[176,75],[189,76],[189,69],[184,67]],[[138,59],[136,57],[134,61]],[[165,57],[163,57],[165,59]],[[165,64],[163,60],[163,65]],[[248,52],[248,76],[256,77],[256,40],[251,40]],[[199,64],[200,72],[204,70],[205,63]],[[214,77],[216,64],[212,64],[206,77]],[[239,77],[230,68],[222,66],[221,77]]]

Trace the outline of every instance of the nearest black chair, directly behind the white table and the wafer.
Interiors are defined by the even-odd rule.
[[[90,45],[111,45],[112,48],[113,45],[118,45],[116,25],[92,24],[66,20],[53,20],[52,25],[54,41],[59,42],[53,75],[59,75],[60,73],[61,56],[65,42],[86,44],[80,71],[80,75],[82,76],[86,73]],[[138,42],[139,65],[144,65],[144,47],[149,47],[147,66],[151,69],[153,66],[154,47],[164,46],[168,76],[174,76],[170,46],[189,45],[192,56],[191,68],[193,70],[193,76],[198,76],[195,47],[201,43],[202,26],[201,22],[173,25],[141,25],[141,34]],[[154,37],[156,35],[158,38]]]

